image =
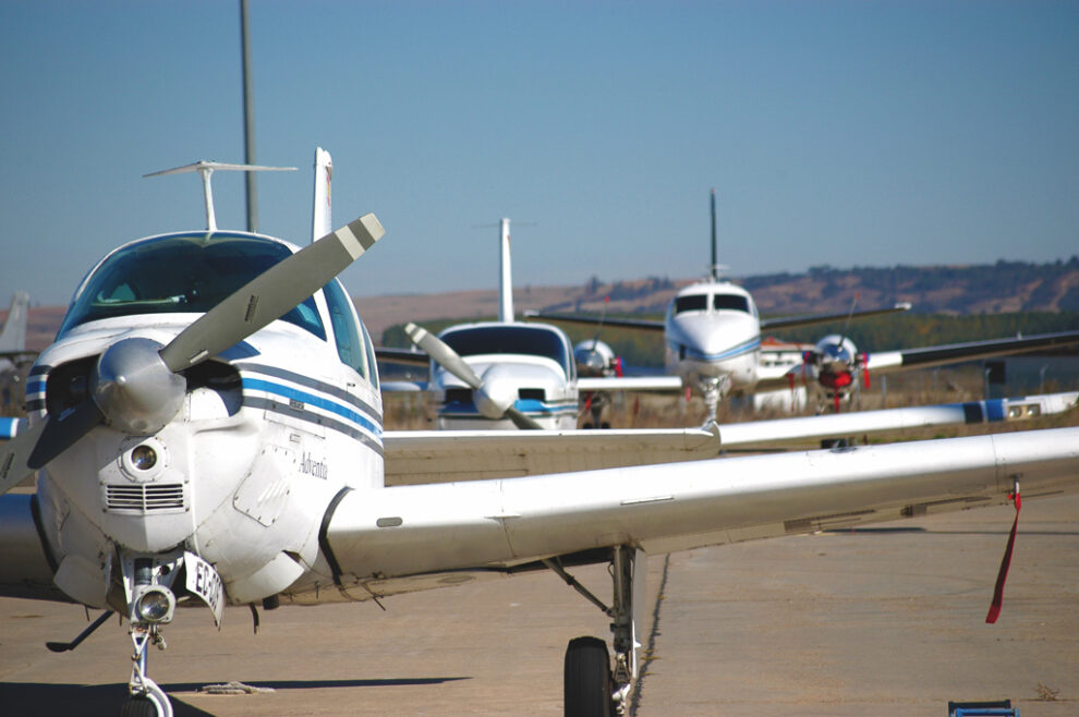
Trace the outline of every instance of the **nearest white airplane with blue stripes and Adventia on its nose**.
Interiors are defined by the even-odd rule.
[[[204,177],[208,217],[210,173],[234,168],[185,168]],[[88,631],[110,611],[128,620],[124,714],[172,714],[147,648],[163,647],[178,606],[220,623],[226,605],[549,569],[610,617],[614,664],[595,637],[571,641],[565,663],[567,714],[607,715],[637,676],[648,555],[1004,503],[1020,484],[1028,498],[1079,488],[1079,428],[635,467],[608,467],[627,450],[574,453],[580,434],[399,439],[335,279],[381,236],[377,219],[302,250],[208,223],[92,269],[32,369],[28,425],[0,453],[3,491],[37,476],[36,491],[0,497],[0,595],[106,610]],[[627,434],[623,447],[653,440]],[[528,462],[531,436],[549,460],[501,462]],[[448,438],[457,453],[441,460]],[[481,479],[437,483],[452,471]],[[567,572],[584,563],[609,563],[608,601]]]

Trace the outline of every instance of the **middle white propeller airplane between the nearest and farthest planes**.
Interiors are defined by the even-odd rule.
[[[594,398],[598,391],[681,389],[677,377],[616,375],[609,370],[609,360],[597,366],[594,356],[598,354],[571,347],[558,327],[517,321],[509,227],[510,220],[502,219],[497,321],[451,326],[437,337],[409,324],[405,333],[424,353],[376,350],[388,361],[427,364],[432,360],[425,387],[439,428],[566,430],[577,427],[582,392],[589,409],[602,409]]]

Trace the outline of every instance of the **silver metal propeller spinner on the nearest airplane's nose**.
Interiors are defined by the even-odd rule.
[[[117,430],[155,434],[180,411],[186,381],[169,370],[160,350],[150,339],[123,339],[98,358],[94,401]]]

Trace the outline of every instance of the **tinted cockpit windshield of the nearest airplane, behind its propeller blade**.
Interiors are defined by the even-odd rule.
[[[136,242],[86,279],[60,332],[102,318],[205,313],[290,256],[283,244],[242,234],[175,234]],[[326,340],[313,297],[281,317]]]

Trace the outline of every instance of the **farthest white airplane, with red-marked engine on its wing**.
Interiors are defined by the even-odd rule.
[[[849,339],[829,336],[805,356],[803,365],[786,376],[768,377],[762,372],[761,332],[811,326],[851,318],[880,316],[908,311],[910,304],[898,303],[892,308],[847,314],[810,315],[785,318],[761,318],[750,293],[729,281],[719,279],[716,260],[715,192],[712,193],[712,276],[679,291],[667,307],[663,321],[606,318],[607,326],[663,331],[665,364],[668,374],[680,376],[686,386],[699,389],[714,421],[716,406],[726,396],[768,391],[795,387],[795,378],[820,385],[827,396],[838,402],[847,396],[852,373],[900,370],[957,363],[997,355],[1036,351],[1046,347],[1079,341],[1079,331],[1039,335],[1027,338],[981,341],[968,344],[929,347],[911,351],[892,351],[866,357],[858,354]],[[601,317],[585,314],[531,312],[535,318],[553,321],[592,324]],[[868,374],[866,374],[868,376]]]

